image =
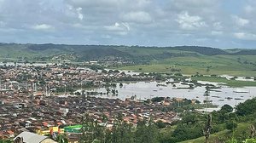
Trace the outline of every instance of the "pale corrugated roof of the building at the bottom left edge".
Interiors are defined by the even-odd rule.
[[[40,134],[33,134],[30,132],[22,132],[18,136],[15,137],[22,137],[23,142],[25,143],[40,143],[41,141],[49,138],[48,136],[40,135]]]

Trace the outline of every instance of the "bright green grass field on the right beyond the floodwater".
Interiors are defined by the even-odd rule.
[[[119,69],[134,72],[172,72],[173,68],[189,75],[195,75],[198,72],[204,75],[226,74],[256,77],[256,58],[253,55],[174,57],[166,60],[153,60],[149,65],[123,66]]]

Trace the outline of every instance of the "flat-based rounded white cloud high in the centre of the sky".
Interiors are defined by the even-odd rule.
[[[135,23],[149,23],[152,22],[150,14],[144,11],[132,11],[128,14],[123,15],[123,19],[127,22]]]

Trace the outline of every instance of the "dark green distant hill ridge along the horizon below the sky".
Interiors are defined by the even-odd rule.
[[[102,60],[111,56],[129,60],[162,60],[179,56],[203,55],[254,55],[255,49],[240,49],[228,52],[223,49],[198,46],[140,47],[115,45],[66,45],[66,44],[18,44],[0,43],[2,58],[36,58],[57,54],[77,54],[79,60]]]

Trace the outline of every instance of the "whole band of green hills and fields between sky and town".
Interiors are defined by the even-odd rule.
[[[0,60],[111,61],[135,72],[256,77],[256,49],[0,43]],[[119,63],[119,64],[116,64]]]

